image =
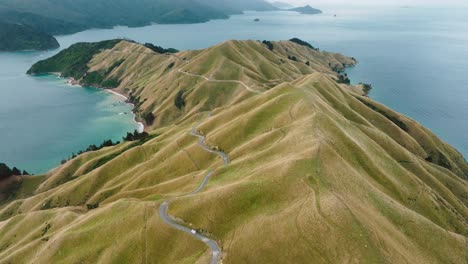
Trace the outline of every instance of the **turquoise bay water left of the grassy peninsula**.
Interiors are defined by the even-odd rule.
[[[55,75],[29,77],[41,53],[0,54],[0,161],[43,173],[72,152],[121,140],[137,125],[124,99],[73,87]],[[120,113],[127,112],[127,115]]]

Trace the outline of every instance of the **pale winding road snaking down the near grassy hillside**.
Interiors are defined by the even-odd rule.
[[[222,151],[217,151],[217,150],[213,150],[211,149],[207,144],[206,144],[206,137],[204,137],[203,135],[197,133],[196,131],[196,128],[192,128],[192,130],[190,131],[190,134],[193,135],[193,136],[196,136],[199,138],[198,140],[198,145],[200,145],[204,150],[210,152],[210,153],[214,153],[218,156],[220,156],[223,161],[224,161],[224,165],[228,165],[230,163],[230,160],[229,160],[229,157],[226,153],[222,152]],[[198,186],[197,189],[195,189],[194,191],[192,191],[191,193],[188,193],[188,194],[184,194],[182,196],[178,196],[178,197],[184,197],[184,196],[187,196],[187,195],[193,195],[193,194],[197,194],[199,193],[207,184],[208,184],[208,181],[210,179],[210,177],[213,175],[213,171],[209,171],[205,178],[203,179],[202,183],[200,184],[200,186]],[[178,197],[175,197],[175,198],[178,198]],[[188,228],[188,227],[185,227],[183,225],[180,225],[178,224],[177,222],[174,221],[174,217],[172,217],[171,215],[169,215],[167,213],[168,209],[169,209],[169,204],[170,204],[170,200],[167,200],[167,201],[164,201],[161,206],[159,207],[159,216],[161,217],[161,219],[163,220],[164,223],[166,223],[167,225],[177,229],[177,230],[180,230],[182,232],[185,232],[193,237],[195,237],[196,239],[202,241],[203,243],[205,243],[211,250],[211,261],[210,261],[210,264],[218,264],[219,261],[220,261],[220,258],[221,258],[221,248],[218,246],[218,243],[216,243],[216,241],[208,238],[208,237],[205,237],[199,233],[192,233],[192,229]]]

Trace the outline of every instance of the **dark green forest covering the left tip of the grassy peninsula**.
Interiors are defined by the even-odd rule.
[[[60,72],[63,77],[71,77],[75,80],[79,80],[88,72],[88,63],[95,54],[102,50],[112,49],[121,41],[122,39],[114,39],[96,43],[73,44],[68,49],[59,52],[57,55],[35,63],[27,73],[41,74]],[[87,76],[87,78],[95,78],[101,82],[103,79],[102,77],[100,78],[100,76],[97,76],[97,74],[91,77]],[[87,81],[91,82],[90,79],[87,79]]]

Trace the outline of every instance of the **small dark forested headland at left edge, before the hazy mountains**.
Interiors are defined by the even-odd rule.
[[[47,33],[0,20],[0,51],[49,50],[58,47],[57,40]]]

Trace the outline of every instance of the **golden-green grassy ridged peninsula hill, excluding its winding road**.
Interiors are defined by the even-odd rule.
[[[0,262],[206,263],[208,248],[157,211],[213,170],[169,213],[218,241],[223,263],[465,263],[464,158],[338,83],[354,59],[297,42],[160,54],[118,41],[94,54],[86,75],[117,79],[155,116],[150,137],[25,178],[0,206]]]

